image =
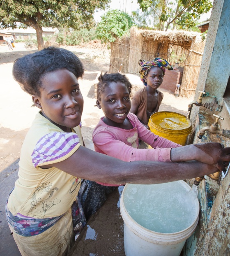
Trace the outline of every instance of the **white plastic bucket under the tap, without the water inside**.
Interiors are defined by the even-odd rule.
[[[158,184],[159,185],[159,184]],[[167,183],[161,184],[167,186]],[[191,225],[176,233],[158,233],[149,230],[134,219],[131,218],[124,204],[127,188],[129,186],[150,186],[126,184],[121,196],[120,212],[124,220],[124,251],[126,256],[179,256],[186,239],[192,235],[196,229],[199,219],[199,202],[193,195],[192,209],[195,218]],[[154,185],[151,185],[154,186]],[[177,181],[177,186],[181,186],[187,191],[191,191],[191,187],[184,181]],[[172,193],[169,192],[169,193]],[[195,198],[195,199],[194,199]],[[174,202],[176,203],[176,202]],[[173,222],[173,219],[171,220]]]

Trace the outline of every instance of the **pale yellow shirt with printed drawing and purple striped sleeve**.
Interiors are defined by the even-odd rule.
[[[9,195],[11,214],[35,219],[60,216],[71,207],[81,179],[43,165],[64,161],[83,145],[80,126],[66,133],[37,113],[21,149],[18,180]]]

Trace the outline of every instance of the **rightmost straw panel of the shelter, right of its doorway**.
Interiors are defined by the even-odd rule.
[[[200,37],[195,37],[186,58],[180,88],[180,95],[187,98],[195,95],[204,48],[205,41],[202,41]]]

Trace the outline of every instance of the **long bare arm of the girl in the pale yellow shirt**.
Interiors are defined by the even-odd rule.
[[[163,163],[152,161],[124,162],[80,146],[66,160],[42,168],[56,167],[76,177],[109,184],[158,184],[190,179],[216,172],[214,166],[196,161]]]

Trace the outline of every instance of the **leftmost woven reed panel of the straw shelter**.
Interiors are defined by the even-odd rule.
[[[124,36],[121,39],[112,42],[110,57],[110,73],[127,73],[129,70],[129,37]]]

